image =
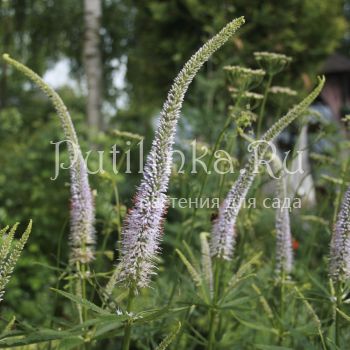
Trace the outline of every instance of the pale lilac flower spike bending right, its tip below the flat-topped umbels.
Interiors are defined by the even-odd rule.
[[[257,166],[267,151],[269,142],[309,107],[322,90],[324,81],[324,77],[319,78],[317,87],[303,101],[294,106],[284,117],[273,124],[263,135],[262,139],[258,141],[262,146],[256,147],[246,166],[241,169],[238,179],[228,192],[227,197],[219,209],[219,215],[214,221],[210,241],[212,257],[225,260],[230,260],[232,258],[236,239],[235,224],[237,216],[248,190],[253,183],[257,172]]]

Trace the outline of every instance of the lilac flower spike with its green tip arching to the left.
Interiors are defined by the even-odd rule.
[[[15,69],[27,76],[49,97],[60,118],[67,141],[71,164],[70,260],[71,263],[88,263],[94,258],[95,210],[86,164],[68,109],[56,91],[47,85],[42,78],[31,69],[10,58],[7,54],[4,54],[3,58]]]

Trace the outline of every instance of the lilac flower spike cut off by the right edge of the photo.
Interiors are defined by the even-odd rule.
[[[350,278],[350,187],[345,192],[333,229],[329,274],[333,281]]]

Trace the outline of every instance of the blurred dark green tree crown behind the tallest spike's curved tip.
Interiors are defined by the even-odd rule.
[[[133,40],[128,51],[127,79],[134,114],[154,114],[175,73],[198,43],[241,15],[246,17],[246,24],[238,36],[220,50],[196,78],[187,99],[196,105],[197,115],[192,120],[203,122],[208,106],[212,106],[207,120],[219,124],[220,115],[225,113],[225,106],[218,110],[225,90],[221,67],[225,64],[256,67],[254,51],[292,56],[288,73],[279,78],[293,87],[309,88],[306,84],[339,45],[345,30],[343,0],[140,2],[136,6]],[[220,79],[216,81],[215,77]],[[191,101],[187,103],[190,105]],[[210,137],[213,130],[207,130]]]

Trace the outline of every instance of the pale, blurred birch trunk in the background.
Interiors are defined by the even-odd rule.
[[[100,51],[101,0],[84,0],[84,49],[83,61],[87,79],[88,97],[86,112],[92,130],[103,128],[102,105],[102,60]]]

